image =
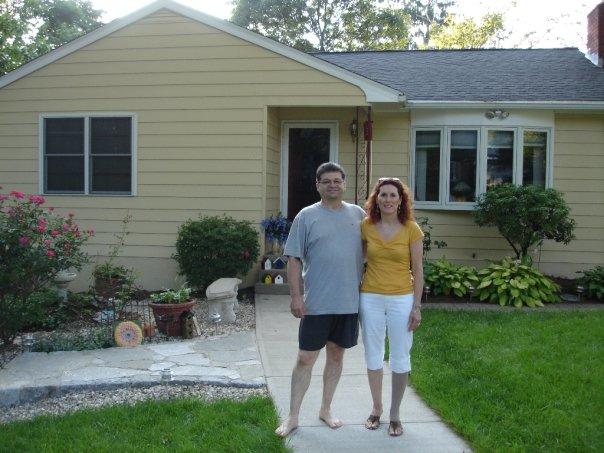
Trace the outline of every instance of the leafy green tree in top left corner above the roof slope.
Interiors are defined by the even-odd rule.
[[[102,25],[90,0],[0,0],[0,75]]]

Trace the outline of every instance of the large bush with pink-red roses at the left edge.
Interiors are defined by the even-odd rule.
[[[88,262],[82,246],[94,232],[80,231],[73,213],[60,216],[45,203],[40,195],[16,190],[0,194],[0,338],[5,344],[25,322],[31,294],[59,271],[80,270]]]

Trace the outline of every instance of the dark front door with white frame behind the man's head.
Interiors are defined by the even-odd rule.
[[[323,162],[336,160],[337,123],[284,123],[283,129],[281,208],[291,220],[320,199],[315,172]]]

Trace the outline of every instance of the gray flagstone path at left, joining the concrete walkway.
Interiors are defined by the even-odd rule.
[[[0,407],[71,390],[149,386],[166,368],[175,384],[265,384],[254,332],[235,332],[136,348],[24,353],[0,369]]]

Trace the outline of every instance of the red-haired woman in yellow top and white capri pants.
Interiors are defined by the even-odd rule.
[[[399,408],[407,386],[413,331],[421,322],[423,233],[413,220],[409,188],[398,178],[380,178],[365,205],[361,237],[367,267],[361,284],[360,319],[373,409],[365,422],[377,429],[382,415],[386,328],[390,344],[392,400],[388,434],[400,436]]]

